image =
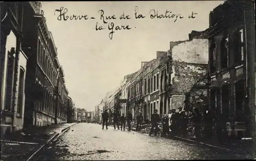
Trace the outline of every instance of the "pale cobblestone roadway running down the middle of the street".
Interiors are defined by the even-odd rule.
[[[241,159],[229,151],[134,131],[79,123],[50,145],[39,160]]]

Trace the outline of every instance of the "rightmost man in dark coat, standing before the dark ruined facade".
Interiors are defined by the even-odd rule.
[[[203,125],[204,125],[204,137],[211,138],[212,137],[212,127],[214,126],[214,117],[209,110],[208,106],[206,107],[205,112],[203,113]]]

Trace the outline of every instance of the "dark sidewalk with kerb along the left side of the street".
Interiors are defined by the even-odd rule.
[[[1,136],[1,160],[27,160],[55,133],[76,123],[53,124],[16,131],[9,136]]]

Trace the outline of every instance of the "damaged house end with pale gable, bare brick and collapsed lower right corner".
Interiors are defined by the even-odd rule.
[[[202,77],[208,68],[208,40],[196,36],[191,40],[170,42],[170,109],[181,107],[190,111],[200,108],[195,102],[207,96],[207,87]]]

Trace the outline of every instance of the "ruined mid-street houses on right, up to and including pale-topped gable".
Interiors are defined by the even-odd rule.
[[[112,97],[115,103],[118,99],[127,100],[121,103],[121,113],[126,115],[131,110],[136,118],[141,111],[144,120],[151,120],[154,109],[162,117],[179,106],[183,109],[188,104],[196,106],[194,102],[207,96],[205,84],[200,84],[207,63],[207,39],[170,42],[168,52],[157,51],[156,59],[141,62],[141,68],[130,74],[126,82],[122,81],[123,85]]]

